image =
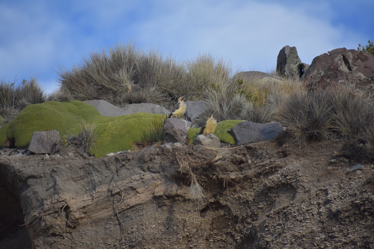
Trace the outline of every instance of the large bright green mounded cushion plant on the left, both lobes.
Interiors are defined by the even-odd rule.
[[[0,129],[0,143],[15,138],[16,147],[27,147],[34,131],[58,130],[61,136],[82,131],[83,121],[95,127],[96,148],[92,154],[100,157],[110,152],[129,150],[134,141],[149,137],[154,119],[165,116],[134,113],[116,117],[101,116],[91,105],[80,102],[54,102],[29,105],[11,122]]]

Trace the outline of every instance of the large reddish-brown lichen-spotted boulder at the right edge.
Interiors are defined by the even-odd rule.
[[[334,49],[315,57],[302,79],[309,89],[350,84],[364,90],[373,90],[374,55],[354,49]]]

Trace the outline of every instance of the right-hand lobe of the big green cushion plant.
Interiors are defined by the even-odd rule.
[[[92,149],[96,157],[110,152],[134,149],[135,141],[144,141],[149,137],[154,118],[164,118],[161,114],[134,113],[130,115],[107,117],[95,120],[97,145]]]

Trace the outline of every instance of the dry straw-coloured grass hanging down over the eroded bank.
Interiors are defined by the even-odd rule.
[[[194,158],[192,156],[193,148],[198,150],[198,153],[194,154],[201,155],[201,157]],[[199,180],[205,172],[211,172],[217,178],[221,179],[223,181],[223,186],[226,186],[229,181],[227,174],[233,169],[233,165],[230,163],[230,159],[232,159],[232,148],[185,146],[175,152],[175,156],[180,165],[181,174],[186,174],[187,177],[190,178],[188,197],[192,202],[203,203],[207,199],[206,192],[202,187],[205,182]]]

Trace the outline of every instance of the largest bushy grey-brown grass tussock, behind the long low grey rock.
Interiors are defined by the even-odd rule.
[[[103,99],[114,105],[163,104],[168,96],[183,93],[186,71],[171,56],[155,49],[137,49],[135,44],[117,44],[92,52],[72,69],[60,68],[60,90],[51,100]]]

